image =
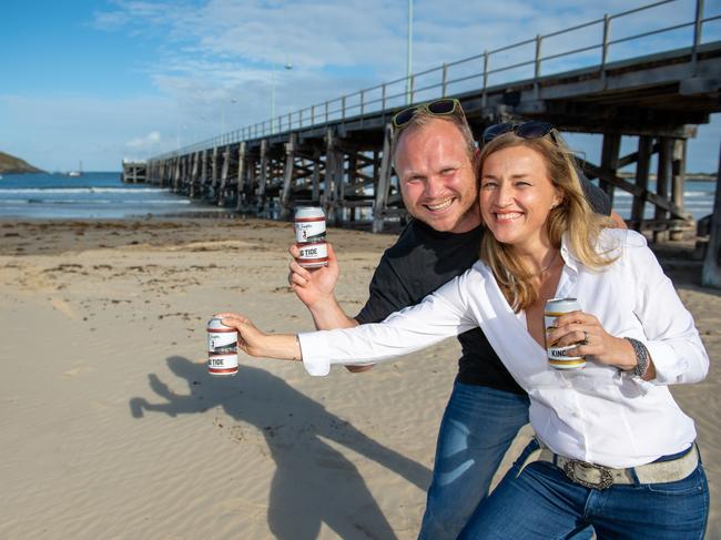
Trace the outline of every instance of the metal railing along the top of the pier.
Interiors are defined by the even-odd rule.
[[[694,8],[692,20],[676,22],[661,28],[652,28],[653,21],[669,20],[668,9],[674,4],[687,4]],[[686,9],[686,13],[689,9]],[[634,20],[641,18],[641,20]],[[670,18],[673,20],[673,18]],[[679,17],[676,18],[677,20]],[[454,62],[413,73],[409,77],[384,82],[357,92],[324,101],[298,111],[278,115],[237,130],[222,133],[217,136],[200,141],[175,151],[166,152],[154,159],[166,159],[173,155],[186,154],[204,149],[224,146],[241,141],[267,137],[281,132],[306,129],[317,125],[336,123],[349,118],[360,118],[377,114],[380,111],[395,110],[408,103],[427,101],[449,94],[458,95],[464,91],[480,89],[483,96],[495,85],[517,81],[539,82],[546,77],[569,69],[598,67],[603,71],[609,62],[622,59],[623,52],[628,58],[638,55],[638,49],[628,49],[628,45],[638,45],[646,41],[644,52],[652,45],[661,47],[657,52],[662,52],[679,47],[689,47],[695,62],[699,45],[711,41],[709,37],[721,37],[721,24],[711,28],[707,39],[702,39],[703,30],[721,21],[721,13],[704,14],[703,0],[661,0],[622,11],[616,14],[606,14],[582,24],[577,24],[563,30],[538,34],[532,38],[500,47],[485,50],[483,53],[467,57]],[[624,33],[619,27],[628,24],[631,32]],[[642,31],[638,31],[642,29]],[[592,31],[595,37],[581,33]],[[683,37],[683,33],[688,35]],[[663,42],[653,42],[653,38],[663,37]],[[672,42],[672,45],[669,43]],[[546,53],[549,44],[555,44],[551,53]],[[563,49],[563,47],[572,47]],[[626,50],[622,48],[627,47]],[[616,49],[613,49],[616,48]],[[558,50],[560,49],[560,50]]]

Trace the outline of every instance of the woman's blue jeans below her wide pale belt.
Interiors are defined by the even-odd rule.
[[[701,539],[709,514],[709,488],[699,467],[664,483],[615,485],[602,491],[569,480],[552,463],[536,461],[518,471],[532,441],[491,496],[474,512],[463,540],[568,538],[593,526],[601,539]]]

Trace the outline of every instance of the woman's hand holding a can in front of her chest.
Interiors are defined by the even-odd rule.
[[[621,337],[611,336],[596,316],[583,312],[571,312],[556,319],[546,340],[555,346],[578,344],[573,355],[592,356],[601,364],[616,366],[622,370],[633,369],[637,364],[636,353],[630,343]]]

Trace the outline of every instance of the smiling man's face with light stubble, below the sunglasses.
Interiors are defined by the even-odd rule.
[[[395,164],[403,201],[416,220],[449,233],[480,224],[474,164],[453,123],[436,119],[403,133]]]

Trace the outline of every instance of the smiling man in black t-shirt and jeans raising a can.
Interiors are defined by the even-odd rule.
[[[354,318],[333,294],[338,266],[332,246],[327,267],[308,271],[291,263],[291,286],[318,329],[383,320],[418,303],[478,259],[483,227],[477,151],[460,103],[444,99],[403,111],[394,118],[394,166],[413,220],[380,258],[369,298]],[[608,197],[586,184],[591,205],[608,214]],[[297,248],[291,247],[291,254],[297,258]],[[463,355],[440,424],[419,539],[456,538],[488,495],[514,437],[528,422],[528,396],[483,332],[476,328],[458,339]]]

